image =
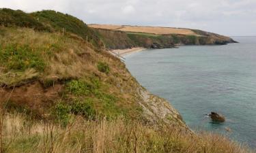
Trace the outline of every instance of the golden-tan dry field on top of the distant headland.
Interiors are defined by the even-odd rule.
[[[169,27],[143,27],[143,26],[118,26],[110,24],[89,24],[89,27],[96,29],[109,29],[114,31],[126,31],[134,33],[154,33],[157,35],[166,34],[180,34],[180,35],[197,35],[194,31],[190,29],[179,29],[179,28],[169,28]]]

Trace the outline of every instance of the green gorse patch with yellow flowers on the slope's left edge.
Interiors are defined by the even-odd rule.
[[[40,52],[33,50],[28,45],[18,44],[0,46],[0,65],[20,71],[28,68],[44,71],[46,66]]]

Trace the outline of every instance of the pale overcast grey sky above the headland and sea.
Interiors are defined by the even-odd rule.
[[[0,0],[0,7],[57,10],[87,24],[131,24],[256,35],[256,0]]]

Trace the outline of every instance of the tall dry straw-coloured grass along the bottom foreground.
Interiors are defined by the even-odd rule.
[[[3,122],[5,152],[250,152],[213,133],[190,135],[173,126],[147,126],[122,118],[76,118],[63,128],[8,114]]]

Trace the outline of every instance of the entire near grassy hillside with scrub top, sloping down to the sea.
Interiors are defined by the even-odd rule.
[[[1,153],[249,152],[190,131],[83,21],[54,11],[0,16]]]

